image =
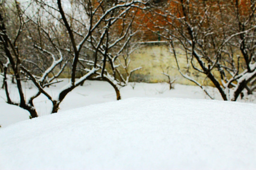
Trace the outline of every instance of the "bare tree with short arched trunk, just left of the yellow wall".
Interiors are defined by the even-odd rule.
[[[115,3],[113,1],[101,5],[102,11],[105,11],[108,6],[115,5]],[[141,67],[128,70],[130,54],[136,49],[136,44],[131,40],[139,30],[137,26],[133,27],[136,12],[126,12],[123,16],[119,15],[116,20],[113,16],[116,16],[117,12],[113,11],[112,17],[105,20],[100,29],[97,30],[97,34],[91,35],[87,49],[100,58],[98,63],[100,70],[91,79],[104,80],[110,83],[115,89],[117,100],[119,100],[121,99],[119,88],[127,85],[132,73]],[[113,22],[114,20],[116,21]],[[113,28],[110,29],[110,27]],[[89,65],[93,64],[93,61],[88,59],[81,58],[80,61]]]

